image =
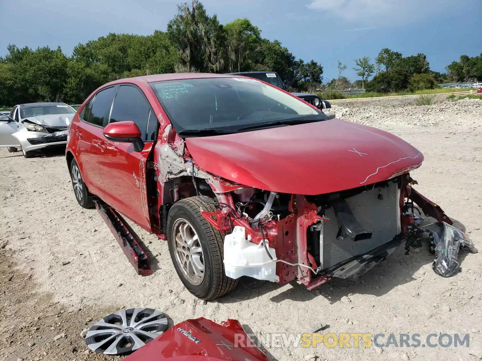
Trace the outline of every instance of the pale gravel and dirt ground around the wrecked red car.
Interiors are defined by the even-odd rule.
[[[413,99],[333,102],[337,117],[388,130],[425,156],[413,177],[482,249],[482,102],[413,106]],[[470,333],[458,348],[274,348],[272,360],[477,360],[482,358],[482,254],[459,254],[442,278],[426,248],[403,249],[358,280],[308,291],[297,283],[240,284],[227,297],[192,297],[167,244],[137,227],[154,273],[141,277],[95,210],[78,206],[60,152],[25,159],[0,150],[0,360],[105,360],[85,353],[91,319],[120,308],[160,309],[177,323],[236,318],[254,333],[305,333],[322,322],[337,333]],[[67,263],[69,262],[69,263]],[[62,335],[64,334],[64,335]],[[56,337],[62,335],[60,337]],[[54,338],[57,338],[54,340]],[[107,359],[113,359],[108,357]]]

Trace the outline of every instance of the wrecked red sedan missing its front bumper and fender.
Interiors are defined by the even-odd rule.
[[[137,272],[151,270],[124,217],[167,239],[177,274],[202,299],[242,276],[308,289],[356,277],[424,232],[448,276],[470,245],[412,188],[417,149],[249,77],[108,83],[74,116],[66,155],[80,206],[97,207]],[[438,223],[420,228],[414,202]]]

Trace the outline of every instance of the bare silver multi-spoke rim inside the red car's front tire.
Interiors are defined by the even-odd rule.
[[[204,257],[198,234],[186,219],[174,223],[174,248],[177,264],[189,283],[199,285],[204,279]]]

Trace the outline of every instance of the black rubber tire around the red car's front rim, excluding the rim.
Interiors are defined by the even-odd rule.
[[[213,199],[206,196],[182,199],[174,203],[167,216],[169,253],[177,275],[190,293],[204,300],[221,297],[238,284],[238,280],[233,280],[226,276],[224,270],[224,240],[221,232],[214,229],[211,224],[201,216],[201,207],[208,212],[215,212],[216,208],[214,205],[208,202],[213,202]],[[187,220],[198,235],[204,266],[202,282],[200,284],[193,284],[187,278],[182,271],[178,257],[176,257],[178,252],[174,248],[176,244],[174,226],[176,226],[176,222],[180,220]],[[192,258],[192,256],[190,257]]]

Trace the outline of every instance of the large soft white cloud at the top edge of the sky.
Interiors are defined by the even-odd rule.
[[[443,11],[453,11],[452,0],[310,0],[306,6],[349,22],[407,23]],[[464,1],[464,0],[460,0]]]

